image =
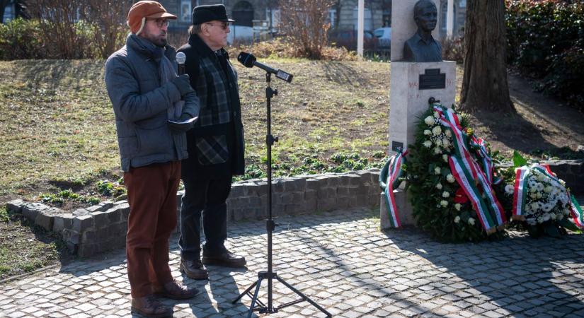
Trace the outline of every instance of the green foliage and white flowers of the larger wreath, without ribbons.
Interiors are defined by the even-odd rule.
[[[447,162],[447,155],[453,153],[452,136],[434,115],[430,106],[420,117],[415,143],[408,146],[408,197],[418,227],[442,242],[478,242],[502,238],[504,230],[487,235],[470,201],[457,203],[464,200],[466,195],[454,180]],[[463,131],[468,135],[473,134],[468,117],[464,114],[459,114],[459,117]],[[470,144],[467,146],[469,150],[472,148]],[[474,151],[471,153],[474,155]],[[504,187],[505,182],[501,182],[493,190],[505,211],[510,211],[513,196],[505,194]]]

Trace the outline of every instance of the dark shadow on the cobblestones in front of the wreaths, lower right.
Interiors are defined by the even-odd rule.
[[[584,282],[571,276],[581,271],[578,266],[584,251],[577,235],[559,240],[533,239],[514,233],[498,242],[443,244],[416,229],[389,230],[384,234],[397,248],[430,261],[443,271],[442,278],[460,278],[460,283],[486,296],[485,302],[492,302],[508,312],[525,311],[525,314],[557,317],[570,314],[575,308],[584,308],[583,302],[576,298]],[[560,252],[558,248],[564,250]],[[563,283],[567,290],[556,283]],[[429,288],[428,293],[433,295],[455,290],[440,281],[429,285],[433,288]],[[452,301],[459,298],[456,294],[450,296]],[[519,306],[520,303],[528,305]]]

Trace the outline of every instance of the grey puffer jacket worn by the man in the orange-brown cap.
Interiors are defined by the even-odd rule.
[[[181,100],[172,82],[161,83],[162,54],[176,69],[176,50],[155,47],[136,35],[105,62],[105,86],[113,104],[122,170],[188,158],[184,132],[171,131],[167,109]],[[199,114],[195,92],[184,97],[183,114]]]

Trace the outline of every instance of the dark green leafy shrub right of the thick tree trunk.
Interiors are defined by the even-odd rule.
[[[539,80],[538,89],[584,110],[584,3],[507,2],[511,64]]]

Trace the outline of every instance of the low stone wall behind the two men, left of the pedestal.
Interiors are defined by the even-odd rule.
[[[379,170],[309,175],[273,179],[273,216],[370,207],[379,204]],[[176,199],[180,207],[183,192]],[[268,182],[251,179],[233,184],[227,199],[229,220],[265,219],[268,215]],[[9,211],[22,213],[36,225],[62,235],[69,249],[88,257],[108,249],[125,246],[127,201],[105,201],[73,212],[45,204],[13,200]]]

